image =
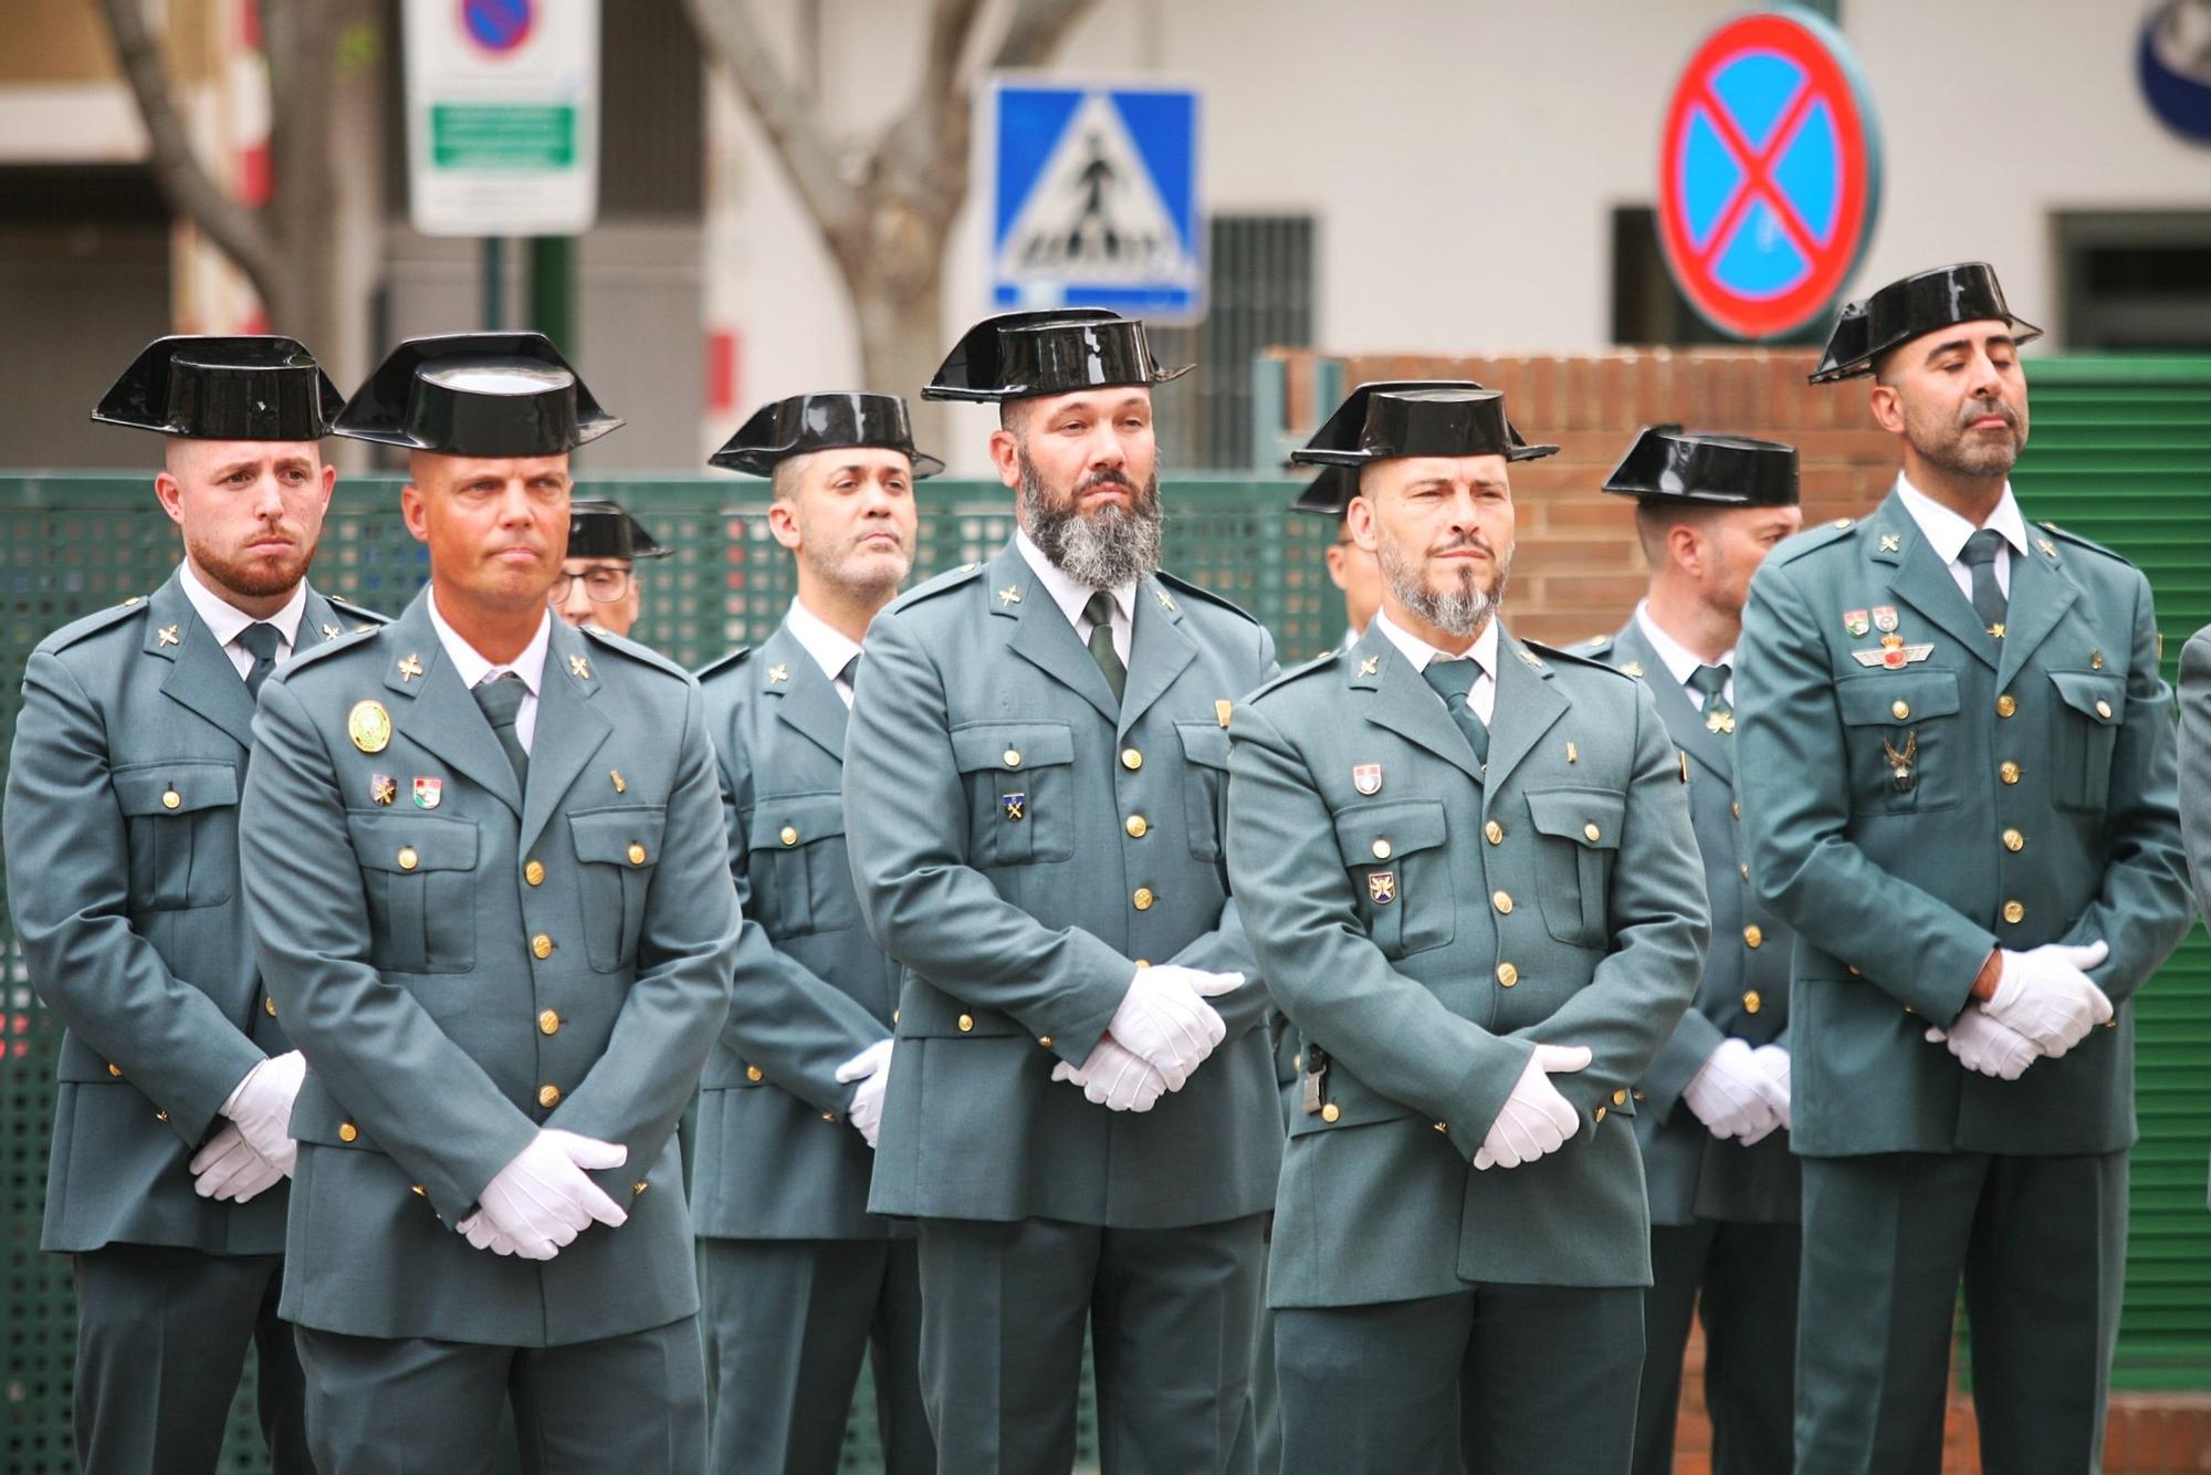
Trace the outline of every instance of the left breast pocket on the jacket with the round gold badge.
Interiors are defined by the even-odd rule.
[[[347,814],[369,891],[369,962],[387,973],[475,966],[475,823]]]

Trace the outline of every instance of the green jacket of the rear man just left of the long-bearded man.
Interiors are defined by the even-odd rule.
[[[845,699],[787,626],[699,686],[745,922],[701,1081],[692,1218],[712,1238],[911,1236],[867,1212],[876,1154],[836,1079],[898,1006],[898,964],[860,924],[845,858]]]

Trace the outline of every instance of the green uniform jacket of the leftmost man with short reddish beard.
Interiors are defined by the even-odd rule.
[[[239,887],[254,703],[181,577],[55,630],[22,677],[9,904],[24,971],[66,1026],[44,1249],[283,1249],[283,1183],[250,1203],[192,1192],[223,1101],[292,1044]],[[310,588],[294,650],[374,624]]]

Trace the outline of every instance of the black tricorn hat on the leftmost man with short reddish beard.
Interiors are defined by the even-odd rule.
[[[345,409],[298,338],[155,338],[93,420],[195,440],[321,440]]]

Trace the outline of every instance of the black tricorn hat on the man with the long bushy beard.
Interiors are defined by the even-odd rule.
[[[922,389],[924,400],[1028,400],[1112,385],[1165,385],[1139,318],[1106,307],[1004,312],[966,329]]]

